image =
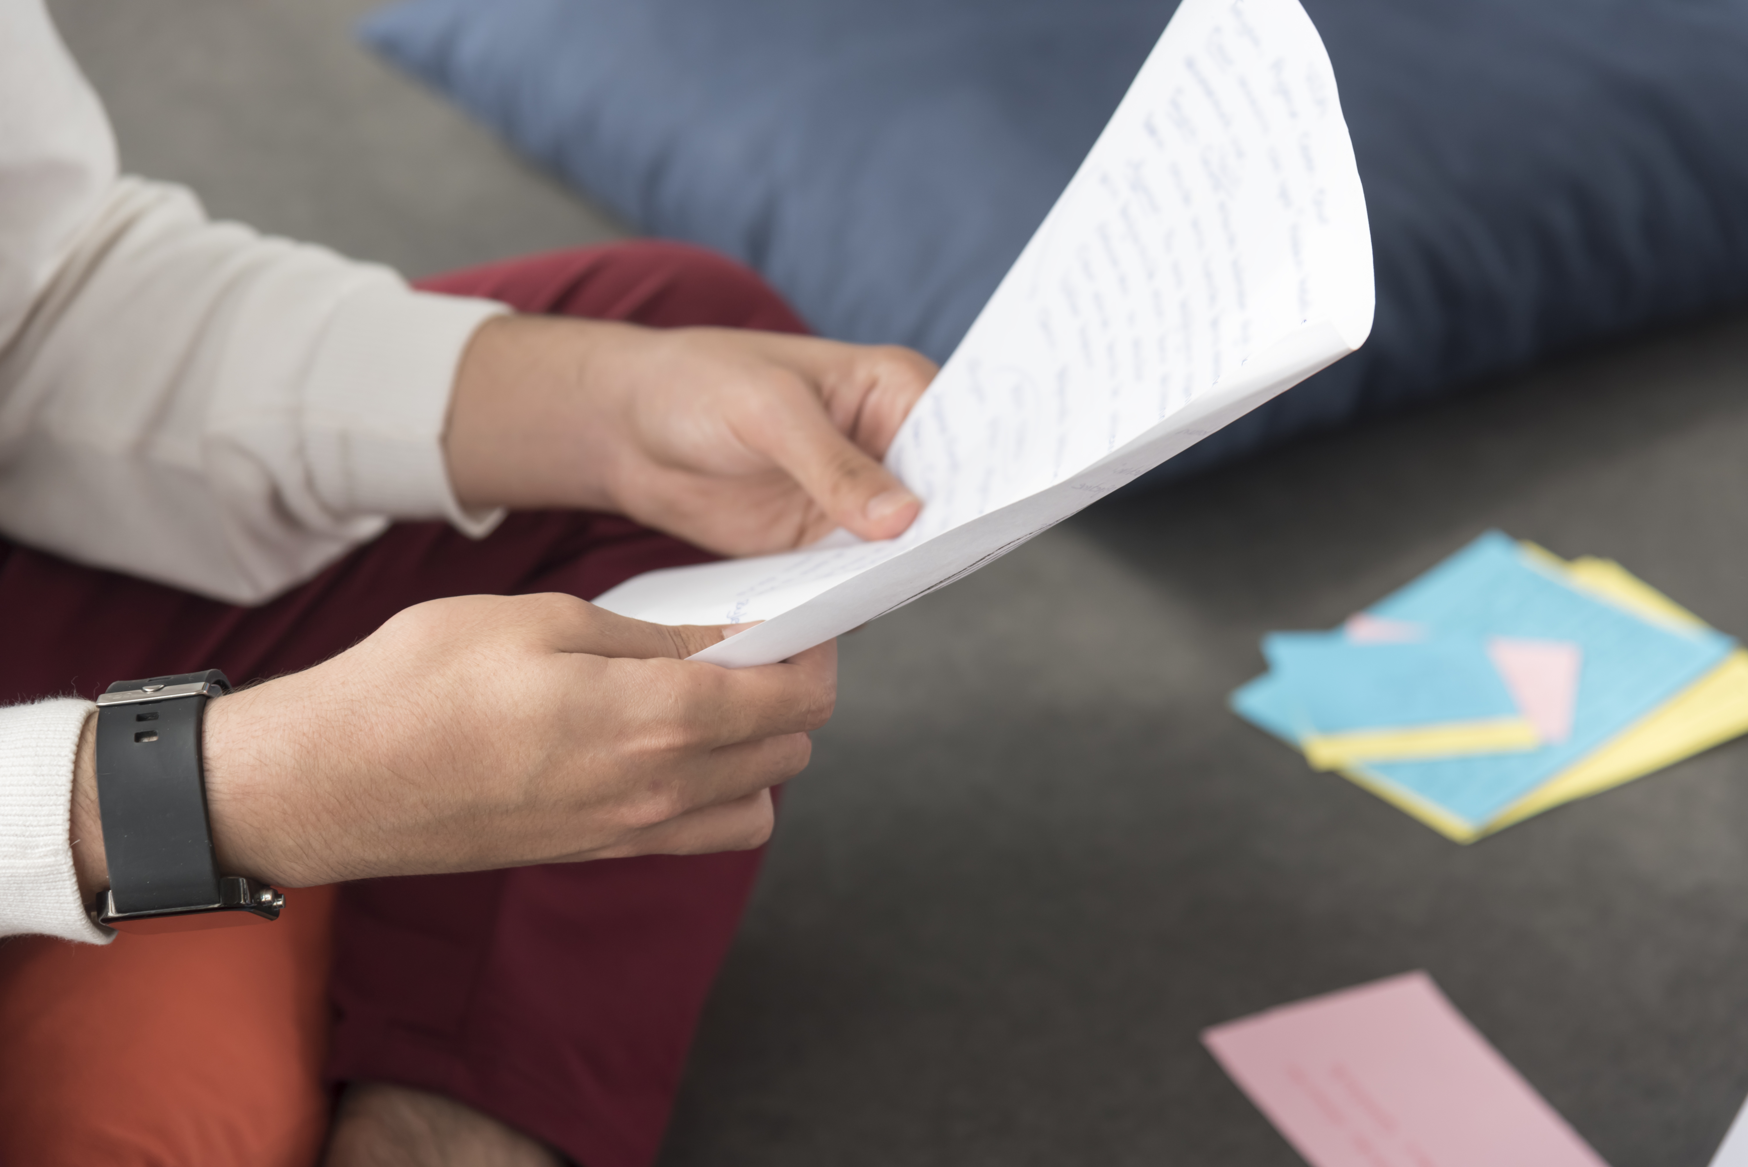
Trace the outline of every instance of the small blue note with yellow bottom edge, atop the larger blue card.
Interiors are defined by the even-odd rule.
[[[1342,632],[1271,632],[1262,655],[1297,735],[1517,718],[1479,636],[1353,643]]]

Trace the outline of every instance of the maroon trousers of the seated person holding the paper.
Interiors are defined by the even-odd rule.
[[[696,248],[624,243],[427,281],[524,313],[802,332],[752,273]],[[409,604],[458,594],[593,597],[708,559],[624,519],[519,514],[482,542],[392,528],[316,578],[236,608],[0,540],[0,702],[94,697],[131,676],[308,667]],[[489,678],[486,678],[489,680]],[[383,879],[341,891],[334,1081],[444,1094],[586,1167],[654,1160],[704,996],[759,853],[649,856]]]

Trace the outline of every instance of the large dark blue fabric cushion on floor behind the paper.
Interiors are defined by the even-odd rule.
[[[1168,465],[1748,300],[1748,0],[1304,0],[1365,182],[1358,355]],[[402,0],[364,38],[825,335],[949,353],[1171,0]]]

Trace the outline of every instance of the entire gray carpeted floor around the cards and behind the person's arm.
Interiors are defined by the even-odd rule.
[[[128,162],[423,273],[607,238],[346,42],[353,0],[58,0]],[[1748,742],[1458,847],[1239,723],[1498,526],[1748,632],[1748,318],[1140,500],[844,643],[668,1167],[1297,1157],[1204,1025],[1426,968],[1613,1167],[1748,1094]]]

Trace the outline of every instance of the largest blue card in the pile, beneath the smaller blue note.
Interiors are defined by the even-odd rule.
[[[1571,735],[1524,753],[1370,763],[1369,772],[1482,826],[1505,807],[1717,667],[1734,641],[1671,629],[1580,592],[1489,531],[1372,615],[1440,634],[1575,641],[1584,650]]]

